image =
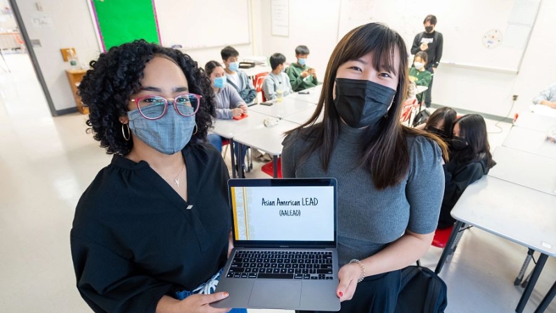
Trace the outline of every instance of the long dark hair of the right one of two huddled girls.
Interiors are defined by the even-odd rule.
[[[478,114],[468,114],[457,119],[456,124],[459,125],[459,137],[465,138],[467,147],[454,150],[451,162],[468,163],[486,158],[486,165],[493,167],[496,162],[492,159],[484,118]]]

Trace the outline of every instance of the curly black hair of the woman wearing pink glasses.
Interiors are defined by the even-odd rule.
[[[139,91],[145,63],[156,55],[174,60],[186,75],[190,93],[202,95],[199,111],[195,114],[197,132],[190,144],[206,140],[216,113],[211,80],[204,70],[190,56],[177,49],[135,40],[112,47],[97,61],[91,61],[91,69],[78,88],[81,101],[89,108],[87,125],[90,128],[87,131],[92,132],[100,146],[106,148],[107,154],[126,155],[133,147],[133,141],[124,139],[119,118],[129,111],[131,95]]]

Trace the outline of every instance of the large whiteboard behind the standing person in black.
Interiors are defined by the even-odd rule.
[[[354,27],[383,22],[411,49],[424,31],[423,19],[436,15],[443,35],[441,63],[516,74],[534,26],[540,0],[342,0],[338,40]],[[495,48],[483,45],[490,30],[502,32]]]

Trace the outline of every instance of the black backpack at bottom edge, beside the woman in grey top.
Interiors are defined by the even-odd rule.
[[[429,268],[407,266],[394,313],[442,313],[448,305],[445,282]]]

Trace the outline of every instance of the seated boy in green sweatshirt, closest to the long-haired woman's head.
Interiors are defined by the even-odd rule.
[[[306,65],[309,48],[307,46],[297,46],[295,48],[296,63],[292,63],[286,74],[290,77],[290,84],[293,91],[301,91],[318,85],[317,73],[314,68]]]

